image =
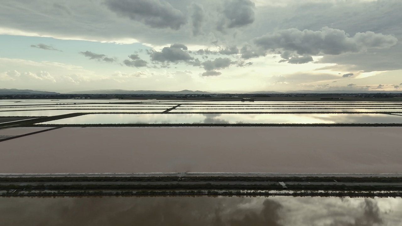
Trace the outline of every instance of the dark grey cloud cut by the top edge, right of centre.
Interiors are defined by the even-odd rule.
[[[228,28],[243,27],[254,22],[255,4],[250,0],[227,1],[224,7]],[[218,27],[223,27],[223,25],[218,24]]]

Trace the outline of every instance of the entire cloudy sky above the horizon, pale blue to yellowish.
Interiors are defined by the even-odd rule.
[[[400,0],[4,0],[0,88],[402,91]]]

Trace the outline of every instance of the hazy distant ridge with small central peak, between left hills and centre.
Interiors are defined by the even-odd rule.
[[[204,91],[191,91],[191,90],[181,90],[181,91],[156,91],[156,90],[122,90],[122,89],[112,89],[112,90],[89,90],[89,91],[75,91],[69,92],[70,94],[213,94],[217,92],[204,92]]]

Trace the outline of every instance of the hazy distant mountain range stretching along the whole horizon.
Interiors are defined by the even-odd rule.
[[[228,90],[228,91],[191,91],[191,90],[181,90],[181,91],[156,91],[156,90],[122,90],[122,89],[108,89],[108,90],[88,90],[88,91],[75,91],[68,92],[68,94],[137,94],[137,95],[149,95],[149,94],[170,94],[170,95],[180,95],[180,94],[287,94],[287,93],[401,93],[401,91],[379,91],[379,90],[295,90],[295,91],[287,91],[287,92],[277,92],[277,91],[254,91],[254,92],[242,92],[236,90]],[[21,89],[2,89],[0,88],[0,95],[35,95],[35,94],[44,94],[44,95],[55,95],[59,94],[58,92],[46,92],[46,91],[37,91],[37,90],[21,90]]]

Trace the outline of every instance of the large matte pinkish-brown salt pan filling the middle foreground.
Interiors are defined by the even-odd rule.
[[[401,137],[400,127],[65,127],[0,142],[0,172],[402,173]]]

